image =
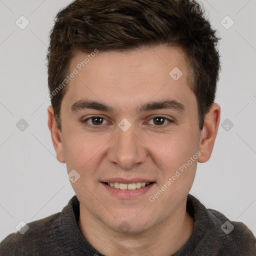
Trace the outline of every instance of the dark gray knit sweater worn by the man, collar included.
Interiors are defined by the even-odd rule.
[[[195,221],[193,232],[173,256],[256,255],[256,240],[246,225],[206,209],[190,194],[186,208]],[[74,195],[61,212],[27,223],[29,228],[24,234],[16,232],[5,237],[0,243],[0,256],[102,256],[81,234],[78,219],[79,201]]]

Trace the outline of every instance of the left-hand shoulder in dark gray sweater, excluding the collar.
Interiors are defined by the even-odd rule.
[[[54,237],[61,235],[60,214],[58,212],[29,222],[19,231],[10,233],[0,242],[0,255],[42,255],[39,250],[52,247],[51,243],[56,242]]]

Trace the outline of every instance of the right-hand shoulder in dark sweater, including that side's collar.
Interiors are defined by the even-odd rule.
[[[205,208],[191,194],[187,197],[187,211],[194,218],[194,227],[185,249],[190,248],[192,255],[256,255],[256,239],[244,223]]]

